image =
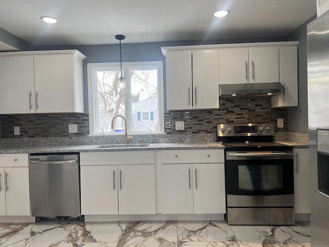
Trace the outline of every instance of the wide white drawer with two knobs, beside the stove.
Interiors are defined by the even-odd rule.
[[[223,149],[161,151],[162,164],[224,163]]]

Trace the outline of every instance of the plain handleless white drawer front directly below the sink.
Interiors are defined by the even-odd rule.
[[[154,151],[114,151],[80,153],[81,166],[154,164]]]

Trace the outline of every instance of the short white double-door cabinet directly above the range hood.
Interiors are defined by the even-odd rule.
[[[279,48],[220,49],[220,84],[279,82]]]

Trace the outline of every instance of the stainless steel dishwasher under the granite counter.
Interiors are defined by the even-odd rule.
[[[79,153],[30,154],[31,213],[34,217],[79,217]]]

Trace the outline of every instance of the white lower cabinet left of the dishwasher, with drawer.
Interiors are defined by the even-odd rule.
[[[0,154],[0,215],[30,216],[28,154]]]

